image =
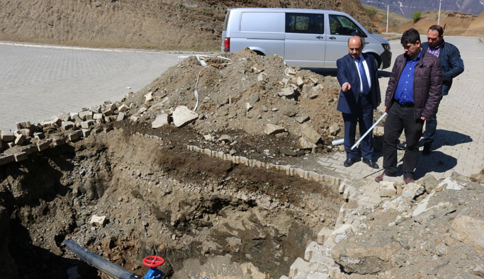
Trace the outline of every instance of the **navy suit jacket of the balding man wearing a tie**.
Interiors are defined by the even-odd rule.
[[[376,109],[377,103],[381,103],[380,84],[378,83],[378,67],[375,58],[371,55],[361,53],[366,64],[368,64],[369,75],[371,79],[370,95],[373,109]],[[356,111],[356,104],[358,103],[358,95],[360,89],[360,79],[358,68],[354,63],[353,57],[347,54],[344,57],[337,59],[336,66],[338,68],[337,78],[339,85],[342,86],[345,82],[349,82],[351,89],[347,92],[339,92],[339,101],[337,110],[342,113],[353,113]]]

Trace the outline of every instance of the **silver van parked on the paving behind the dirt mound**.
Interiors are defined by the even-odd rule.
[[[390,67],[387,40],[369,33],[358,21],[340,11],[300,8],[229,8],[222,32],[222,51],[245,47],[260,55],[279,55],[288,66],[336,68],[347,55],[348,39],[364,39],[363,52],[373,55],[382,69]]]

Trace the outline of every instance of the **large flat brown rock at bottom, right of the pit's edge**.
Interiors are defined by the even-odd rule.
[[[356,242],[337,244],[332,256],[346,273],[361,275],[387,271],[392,266],[392,256],[400,249],[400,244],[390,237],[374,237],[365,241],[364,246]]]

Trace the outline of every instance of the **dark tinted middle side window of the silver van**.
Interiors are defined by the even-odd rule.
[[[325,15],[320,13],[286,13],[286,33],[324,34]]]

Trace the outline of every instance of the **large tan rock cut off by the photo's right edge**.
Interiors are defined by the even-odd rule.
[[[458,216],[451,224],[451,236],[476,249],[484,249],[484,222],[475,217]]]

